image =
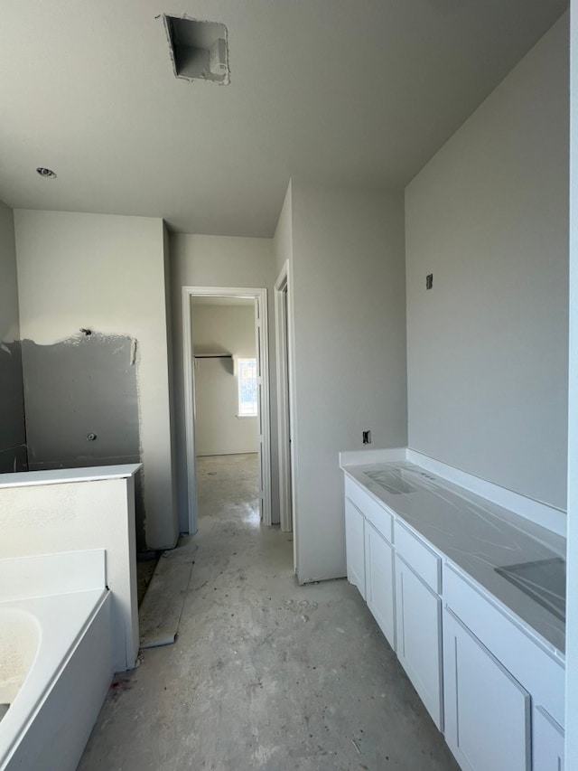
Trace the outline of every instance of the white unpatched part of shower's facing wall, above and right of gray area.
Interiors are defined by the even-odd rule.
[[[172,456],[163,221],[14,212],[23,338],[54,343],[89,327],[137,341],[146,541],[171,547]]]

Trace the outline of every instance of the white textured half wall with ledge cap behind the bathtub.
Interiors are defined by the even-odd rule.
[[[5,474],[0,481],[0,559],[106,551],[117,672],[132,669],[138,653],[135,474],[139,468],[135,464],[36,471]],[[68,571],[73,576],[76,569],[70,566]],[[64,585],[66,576],[59,580]]]

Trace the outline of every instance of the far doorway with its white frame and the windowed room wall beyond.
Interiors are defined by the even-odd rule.
[[[210,482],[232,456],[248,456],[256,512],[271,524],[266,289],[183,287],[182,301],[189,531],[198,527],[200,474]],[[221,462],[206,471],[211,457]]]

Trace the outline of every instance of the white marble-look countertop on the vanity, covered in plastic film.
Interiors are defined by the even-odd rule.
[[[540,566],[558,570],[563,561],[565,567],[563,536],[407,461],[348,465],[343,469],[488,590],[530,633],[537,633],[548,650],[564,660],[563,618],[496,570],[516,566],[516,572],[523,566],[519,569],[525,586],[539,582],[536,576]],[[534,562],[539,563],[537,573],[535,566],[527,564]],[[544,595],[543,587],[535,588]],[[558,588],[550,597],[555,605],[564,606],[564,596],[560,595]]]

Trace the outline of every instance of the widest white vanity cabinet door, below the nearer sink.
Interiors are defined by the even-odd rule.
[[[443,688],[445,740],[464,771],[529,771],[530,696],[448,609]]]

